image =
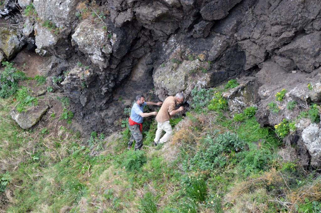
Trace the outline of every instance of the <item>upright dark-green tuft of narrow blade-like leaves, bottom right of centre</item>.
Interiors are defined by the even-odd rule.
[[[194,201],[205,201],[206,183],[202,177],[189,177],[189,184],[185,187],[186,195]]]

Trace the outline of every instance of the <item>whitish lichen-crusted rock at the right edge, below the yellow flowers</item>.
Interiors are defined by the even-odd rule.
[[[302,139],[311,155],[311,166],[321,168],[320,124],[310,124],[302,131]]]

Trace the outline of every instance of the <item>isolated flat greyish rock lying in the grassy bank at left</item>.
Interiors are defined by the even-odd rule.
[[[38,102],[37,106],[32,107],[26,112],[23,111],[19,113],[17,110],[13,109],[10,111],[10,115],[22,129],[29,129],[41,119],[48,109],[48,104],[41,101]]]

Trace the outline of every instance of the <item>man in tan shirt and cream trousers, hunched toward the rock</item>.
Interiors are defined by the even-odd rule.
[[[176,113],[183,111],[184,108],[182,106],[175,110],[175,105],[180,104],[183,100],[184,94],[177,93],[175,96],[168,96],[163,102],[163,105],[156,116],[157,130],[154,139],[154,146],[157,146],[159,143],[165,143],[172,134],[173,130],[169,124],[169,119]],[[160,138],[163,130],[166,132],[166,134]]]

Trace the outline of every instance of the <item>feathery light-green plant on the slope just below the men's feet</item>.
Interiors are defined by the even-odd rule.
[[[146,161],[147,159],[143,150],[129,150],[126,152],[122,166],[125,167],[126,171],[139,170]]]

